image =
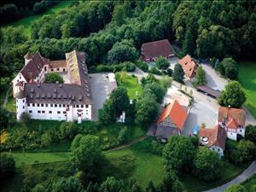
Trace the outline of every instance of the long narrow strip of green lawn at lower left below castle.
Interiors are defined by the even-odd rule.
[[[68,152],[57,153],[11,153],[15,158],[16,166],[52,163],[69,160]]]

